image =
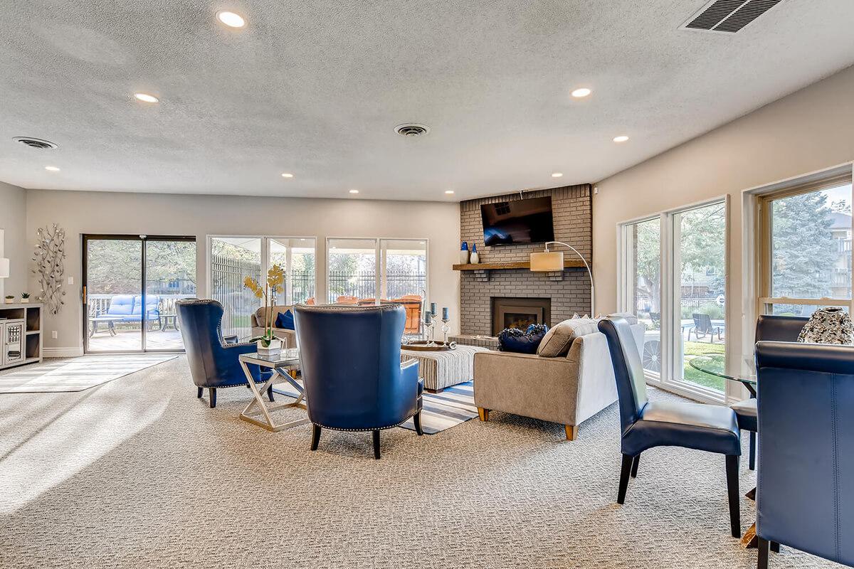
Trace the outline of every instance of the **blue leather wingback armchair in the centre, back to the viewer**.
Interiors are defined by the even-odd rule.
[[[295,307],[308,418],[314,425],[312,450],[322,427],[372,431],[377,459],[383,429],[412,417],[423,434],[418,362],[401,363],[406,320],[401,305]]]

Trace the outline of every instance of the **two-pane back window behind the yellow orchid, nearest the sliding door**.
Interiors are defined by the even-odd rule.
[[[315,240],[312,237],[219,237],[210,238],[211,298],[225,309],[223,332],[246,338],[251,334],[251,315],[260,299],[243,287],[243,279],[261,279],[273,264],[285,271],[284,293],[277,304],[293,305],[313,299],[315,290]]]

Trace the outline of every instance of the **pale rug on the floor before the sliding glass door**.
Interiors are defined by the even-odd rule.
[[[82,392],[176,357],[178,354],[83,356],[24,366],[0,374],[0,393]]]

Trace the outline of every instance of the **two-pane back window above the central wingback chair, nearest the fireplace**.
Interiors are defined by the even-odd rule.
[[[426,240],[332,237],[326,255],[328,302],[370,304],[424,297]]]

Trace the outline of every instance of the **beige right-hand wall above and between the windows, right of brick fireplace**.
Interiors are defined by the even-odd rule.
[[[643,133],[630,143],[642,144]],[[617,223],[729,195],[727,316],[740,322],[742,191],[851,160],[854,67],[595,184],[596,311],[617,307]],[[741,328],[731,329],[731,345],[742,344]]]

